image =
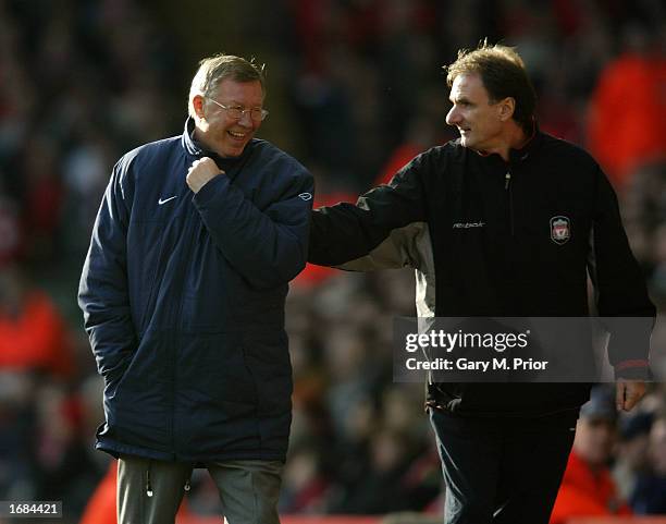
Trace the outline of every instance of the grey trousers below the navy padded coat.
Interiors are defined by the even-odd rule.
[[[282,462],[209,462],[229,524],[280,524]],[[122,455],[118,463],[119,524],[174,524],[193,466]]]

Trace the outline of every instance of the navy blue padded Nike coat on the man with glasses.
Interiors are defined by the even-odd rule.
[[[81,278],[113,455],[203,462],[284,460],[292,368],[288,281],[307,256],[312,176],[268,142],[240,157],[182,136],[115,164]],[[209,156],[225,171],[196,195]]]

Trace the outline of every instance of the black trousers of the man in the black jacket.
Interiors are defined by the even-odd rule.
[[[464,418],[430,409],[446,484],[445,524],[547,524],[578,411]]]

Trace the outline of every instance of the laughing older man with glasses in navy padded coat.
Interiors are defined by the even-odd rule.
[[[201,61],[184,133],[123,156],[78,300],[120,459],[119,522],[174,522],[192,468],[231,524],[278,523],[291,425],[288,281],[305,266],[312,176],[255,138],[262,69]]]

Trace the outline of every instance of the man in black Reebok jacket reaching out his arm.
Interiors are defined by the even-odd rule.
[[[313,212],[309,260],[414,267],[419,317],[654,316],[617,199],[582,149],[541,133],[520,57],[460,51],[448,66],[460,138],[388,185]],[[626,340],[624,341],[626,342]],[[649,332],[608,348],[617,407],[645,392]],[[547,523],[588,383],[429,383],[449,524]]]

